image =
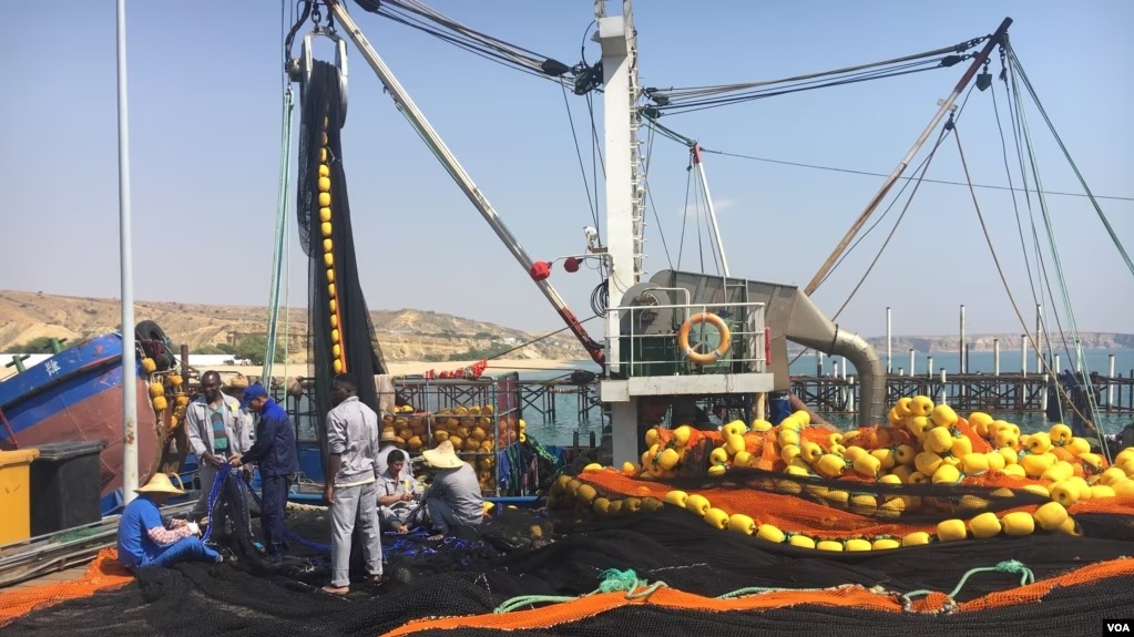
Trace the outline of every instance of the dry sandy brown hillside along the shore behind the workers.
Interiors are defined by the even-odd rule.
[[[117,299],[84,298],[0,290],[0,351],[35,338],[84,338],[119,329]],[[175,343],[194,350],[212,348],[266,330],[264,307],[137,301],[137,321],[155,321]],[[289,309],[289,358],[306,354],[307,311]],[[468,351],[498,351],[542,334],[493,323],[418,309],[371,312],[382,351],[390,360],[459,359]],[[280,316],[284,330],[284,315]],[[569,333],[560,333],[507,355],[509,358],[584,359],[586,353]],[[474,356],[466,356],[473,358]]]

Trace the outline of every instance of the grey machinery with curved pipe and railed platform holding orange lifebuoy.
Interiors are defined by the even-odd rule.
[[[751,407],[759,393],[786,394],[788,341],[849,360],[862,383],[860,425],[885,417],[878,354],[795,286],[663,270],[609,312],[618,328],[601,392],[617,462],[638,457],[641,430],[667,410],[671,424],[694,424],[697,401]]]

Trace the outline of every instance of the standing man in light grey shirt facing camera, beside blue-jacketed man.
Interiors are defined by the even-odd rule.
[[[218,498],[217,511],[209,511],[209,495],[217,479],[217,469],[234,455],[239,456],[252,447],[252,432],[245,426],[240,416],[240,402],[220,390],[220,374],[214,371],[201,376],[201,394],[197,396],[185,411],[186,435],[189,447],[197,457],[197,477],[201,481],[201,498],[191,511],[191,517],[214,524],[217,529],[223,527],[223,500],[244,506],[238,511],[238,519],[251,534],[252,520],[243,491],[236,481],[226,481],[226,496]],[[217,516],[214,516],[217,513]],[[215,520],[213,518],[217,518]],[[213,532],[215,534],[217,530]]]

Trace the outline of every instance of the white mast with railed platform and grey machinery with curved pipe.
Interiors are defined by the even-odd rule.
[[[595,0],[607,159],[601,254],[617,303],[606,316],[601,394],[610,406],[613,461],[638,459],[640,431],[659,413],[669,411],[674,423],[694,417],[697,400],[786,392],[788,340],[850,360],[862,382],[860,424],[880,423],[886,381],[878,355],[831,323],[798,288],[668,270],[642,280],[645,176],[637,136],[637,35],[631,0],[621,1],[620,15],[608,15],[607,6]]]

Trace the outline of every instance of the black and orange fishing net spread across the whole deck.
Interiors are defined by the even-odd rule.
[[[386,535],[388,580],[373,585],[357,569],[359,583],[345,600],[316,591],[327,581],[328,520],[325,510],[306,507],[289,513],[293,547],[284,564],[261,561],[237,530],[225,540],[223,564],[142,569],[135,584],[44,605],[5,634],[739,636],[798,635],[838,622],[839,635],[933,637],[1080,635],[1099,630],[1105,619],[1134,617],[1134,560],[1127,559],[1134,496],[1124,494],[1129,476],[1115,470],[1125,473],[1134,452],[1115,458],[1115,466],[1095,466],[1089,452],[1065,445],[1084,483],[1110,493],[1078,492],[1064,509],[1073,524],[1056,525],[1048,517],[1051,498],[1063,492],[1042,477],[985,469],[950,484],[896,484],[857,469],[829,478],[788,473],[782,448],[792,444],[780,442],[795,440],[781,436],[785,430],[796,431],[801,443],[824,438],[822,455],[856,456],[840,451],[830,431],[795,425],[653,431],[644,465],[581,467],[579,459],[553,483],[548,509],[505,508],[443,542],[424,533]],[[878,451],[907,440],[882,431],[861,430],[857,442]],[[950,431],[972,433],[970,444],[984,441],[982,453],[998,452],[987,426],[958,419]],[[748,457],[737,458],[733,435],[751,443]],[[924,449],[929,436],[907,442]],[[1025,448],[1030,442],[1024,439]],[[762,445],[778,448],[780,459],[769,469],[753,466],[747,451]],[[680,465],[668,466],[661,453],[676,448]],[[928,468],[924,458],[921,464]],[[880,473],[903,475],[902,466]],[[725,467],[723,475],[710,475],[720,473],[714,467]],[[1076,477],[1061,482],[1077,484]],[[896,500],[903,506],[886,507]],[[1032,520],[1029,533],[1013,513]],[[1002,528],[989,534],[974,523],[982,515]],[[964,520],[964,533],[949,520]],[[810,547],[816,544],[826,549]]]

